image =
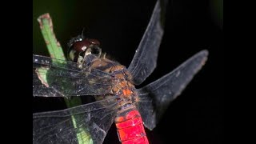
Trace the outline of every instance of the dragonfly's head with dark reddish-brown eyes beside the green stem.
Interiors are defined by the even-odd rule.
[[[78,35],[68,43],[68,58],[70,61],[78,62],[79,59],[83,59],[89,54],[101,55],[102,51],[98,47],[99,45],[100,42],[97,39],[84,38],[83,35]]]

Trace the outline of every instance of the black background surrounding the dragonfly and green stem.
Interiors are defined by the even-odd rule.
[[[46,55],[37,18],[50,13],[62,47],[81,34],[97,38],[102,50],[129,66],[149,22],[155,1],[33,1],[33,53]],[[167,7],[165,34],[158,67],[142,84],[160,78],[199,50],[209,50],[206,66],[186,90],[170,104],[158,126],[146,133],[151,143],[221,143],[222,117],[219,91],[222,46],[222,1],[174,0]],[[33,112],[65,107],[58,99],[33,98]],[[119,143],[115,126],[105,143]]]

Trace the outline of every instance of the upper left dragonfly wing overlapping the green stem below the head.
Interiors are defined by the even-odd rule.
[[[78,63],[33,55],[33,94],[42,97],[110,94],[114,77]]]

